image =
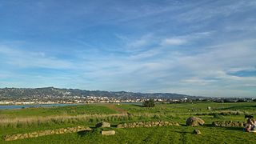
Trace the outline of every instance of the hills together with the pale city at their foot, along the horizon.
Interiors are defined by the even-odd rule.
[[[145,102],[150,98],[155,102],[256,102],[256,98],[214,98],[171,93],[133,93],[126,91],[78,90],[45,88],[2,88],[0,104],[33,105],[54,103],[107,103]]]

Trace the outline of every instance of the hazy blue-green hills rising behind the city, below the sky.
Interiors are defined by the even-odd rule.
[[[54,87],[44,88],[2,88],[0,98],[71,98],[71,97],[108,97],[108,98],[203,98],[186,94],[172,93],[134,93],[126,91],[103,91],[103,90],[78,90],[59,89]]]

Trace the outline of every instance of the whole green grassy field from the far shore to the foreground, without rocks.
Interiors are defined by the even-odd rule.
[[[210,106],[210,110],[207,108]],[[255,102],[238,103],[180,103],[157,104],[154,108],[129,104],[90,104],[51,108],[0,110],[0,143],[256,143],[256,134],[242,131],[242,127],[215,127],[215,121],[244,122],[244,114],[256,116]],[[186,118],[202,118],[204,126],[185,126]],[[181,126],[118,129],[122,122],[173,121]],[[5,142],[6,134],[68,126],[94,127],[97,122],[110,122],[113,136],[102,136],[100,130],[73,134],[48,135]],[[192,134],[194,129],[202,132]]]

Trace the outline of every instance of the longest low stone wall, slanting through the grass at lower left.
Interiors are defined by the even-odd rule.
[[[67,127],[67,128],[57,129],[57,130],[40,130],[40,131],[35,131],[31,133],[26,133],[26,134],[6,135],[4,140],[14,141],[16,139],[36,138],[44,135],[75,133],[82,130],[91,130],[91,129],[85,126],[76,126],[76,127]]]

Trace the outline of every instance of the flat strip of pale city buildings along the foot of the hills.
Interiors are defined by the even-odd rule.
[[[72,104],[72,103],[123,103],[145,102],[149,98],[109,98],[96,96],[70,96],[68,98],[17,98],[1,100],[0,105],[33,105],[33,104]],[[155,102],[180,103],[180,102],[256,102],[256,98],[154,98]]]

